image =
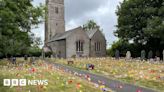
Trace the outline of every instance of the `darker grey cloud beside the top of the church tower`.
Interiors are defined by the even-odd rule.
[[[66,21],[79,18],[84,14],[97,10],[108,0],[65,0]]]

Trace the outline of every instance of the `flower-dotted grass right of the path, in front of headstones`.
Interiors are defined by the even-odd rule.
[[[67,65],[64,59],[50,59],[50,61]],[[92,58],[74,59],[74,64],[71,66],[86,70],[88,63],[95,65],[95,69],[89,72],[164,92],[164,63]]]

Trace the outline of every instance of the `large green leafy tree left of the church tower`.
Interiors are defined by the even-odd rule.
[[[29,36],[32,27],[42,22],[44,7],[34,7],[32,0],[0,0],[0,53],[26,54],[33,42]]]

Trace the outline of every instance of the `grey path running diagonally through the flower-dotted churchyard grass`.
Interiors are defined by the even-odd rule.
[[[108,88],[116,91],[116,92],[157,92],[153,89],[139,87],[133,84],[123,83],[118,80],[109,79],[104,76],[98,75],[98,74],[92,74],[87,71],[83,71],[77,68],[73,68],[67,65],[62,65],[58,63],[52,63],[55,67],[67,70],[69,72],[72,72],[72,74],[78,74],[78,75],[87,75],[90,77],[90,81],[99,84],[99,81],[104,82],[104,85]],[[84,78],[84,77],[82,77]]]

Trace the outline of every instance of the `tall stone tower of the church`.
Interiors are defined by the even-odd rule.
[[[45,43],[65,32],[64,0],[46,0]]]

